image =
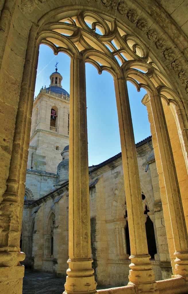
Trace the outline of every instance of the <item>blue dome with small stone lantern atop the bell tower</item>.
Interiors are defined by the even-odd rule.
[[[57,71],[58,69],[56,68],[56,71],[54,71],[51,76],[50,76],[50,85],[48,88],[46,88],[46,90],[51,91],[53,93],[57,93],[60,95],[64,95],[69,98],[70,95],[69,93],[62,88],[61,86],[61,82],[63,80],[63,77],[61,76],[61,74]]]

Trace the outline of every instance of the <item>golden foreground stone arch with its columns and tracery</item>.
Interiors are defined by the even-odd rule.
[[[10,146],[8,153],[5,145],[2,149],[6,153],[2,153],[2,196],[0,197],[2,293],[21,293],[24,269],[19,266],[19,261],[24,259],[24,253],[19,251],[19,242],[40,44],[50,46],[54,54],[64,52],[71,59],[69,268],[65,284],[66,293],[96,292],[90,257],[86,62],[93,64],[99,74],[102,71],[110,72],[114,79],[127,215],[131,232],[130,286],[125,287],[126,291],[132,293],[128,291],[135,288],[138,293],[163,293],[160,290],[162,284],[155,281],[147,250],[142,191],[127,81],[133,83],[137,91],[145,88],[148,94],[143,99],[143,103],[147,106],[151,125],[173,278],[179,283],[178,285],[187,289],[188,126],[187,100],[184,98],[185,85],[179,86],[175,76],[178,74],[180,81],[184,78],[183,83],[186,80],[179,58],[179,49],[175,45],[172,46],[167,34],[166,39],[161,37],[162,29],[159,21],[156,28],[152,28],[150,24],[152,20],[147,11],[143,12],[143,16],[139,16],[136,1],[126,1],[126,3],[104,0],[84,1],[85,5],[77,3],[79,1],[72,1],[75,3],[72,5],[68,3],[69,1],[64,1],[65,3],[42,0],[3,2],[5,10],[4,14],[1,14],[1,20],[4,21],[1,52],[4,53],[4,57],[1,59],[0,77],[1,83],[4,84],[6,81],[7,85],[2,90],[1,109],[4,113],[9,113],[9,116],[4,116],[2,120],[2,138],[4,138],[3,142],[8,141]],[[9,14],[8,11],[12,12]],[[16,18],[17,12],[18,15],[23,15],[20,19]],[[95,32],[96,29],[98,33]],[[27,39],[23,44],[21,44],[21,35],[16,39],[19,30],[23,30],[24,38]],[[11,40],[13,34],[14,38]],[[157,50],[159,55],[156,53]],[[11,62],[14,54],[16,61],[12,64],[12,68],[7,70],[7,60]],[[164,59],[167,62],[165,64]],[[14,86],[11,88],[12,83]],[[11,120],[8,126],[7,120]],[[53,238],[52,235],[50,238]],[[15,283],[17,283],[16,287]],[[167,284],[164,284],[164,288],[169,287],[165,285]]]

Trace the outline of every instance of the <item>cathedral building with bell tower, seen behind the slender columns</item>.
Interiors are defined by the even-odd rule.
[[[69,94],[57,69],[50,80],[33,103],[21,250],[26,267],[60,277],[68,259]],[[137,143],[136,151],[148,252],[155,277],[162,280],[172,269],[151,136]],[[89,167],[89,195],[95,280],[126,285],[130,237],[121,153]]]

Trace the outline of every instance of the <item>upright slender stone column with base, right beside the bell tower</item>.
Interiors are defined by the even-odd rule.
[[[69,259],[65,293],[95,293],[91,263],[85,63],[70,65]]]

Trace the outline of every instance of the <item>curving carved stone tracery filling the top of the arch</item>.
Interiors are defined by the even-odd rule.
[[[118,5],[120,6],[120,3]],[[128,12],[127,14],[129,15]],[[63,51],[69,56],[81,54],[85,62],[98,69],[99,74],[103,70],[109,71],[113,77],[123,74],[127,81],[134,83],[137,91],[140,87],[147,91],[158,91],[160,87],[173,90],[170,78],[166,77],[162,66],[156,63],[145,44],[129,29],[109,17],[107,20],[102,14],[77,11],[74,16],[65,19],[62,19],[62,15],[56,16],[56,22],[46,21],[43,31],[39,34],[40,43],[47,44],[55,53]],[[141,30],[147,29],[144,19],[139,19],[137,26]],[[149,39],[157,39],[157,32],[154,30],[147,30],[147,35]],[[163,41],[157,39],[156,44],[161,49]],[[180,70],[179,78],[183,80],[186,73],[181,73],[181,64],[174,60],[175,53],[172,49],[164,48],[164,56],[172,60],[175,71]],[[185,82],[187,83],[187,80]],[[172,91],[171,99],[176,100],[177,97],[173,94],[175,92]]]

